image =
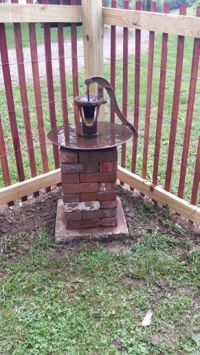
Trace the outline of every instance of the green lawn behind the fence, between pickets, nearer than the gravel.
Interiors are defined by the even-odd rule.
[[[52,29],[54,33],[55,29]],[[67,29],[69,30],[69,29]],[[131,32],[132,35],[132,32]],[[155,147],[155,127],[157,121],[157,98],[159,89],[159,65],[160,65],[160,53],[162,45],[161,34],[156,35],[155,39],[155,60],[154,60],[154,73],[153,73],[153,93],[152,93],[152,103],[151,103],[151,129],[150,129],[150,140],[149,140],[149,151],[148,151],[148,180],[151,180],[153,173],[153,158],[154,158],[154,147]],[[185,41],[185,54],[184,54],[184,76],[181,85],[181,99],[179,106],[179,122],[177,127],[177,142],[175,147],[175,163],[173,169],[173,178],[171,191],[177,193],[178,183],[179,183],[179,171],[181,163],[181,153],[182,144],[184,140],[184,125],[186,120],[186,109],[188,102],[188,89],[190,85],[190,67],[192,60],[192,46],[193,39],[186,38]],[[163,129],[162,129],[162,144],[161,144],[161,154],[159,162],[159,177],[158,184],[163,186],[166,174],[166,161],[168,153],[168,138],[170,132],[170,116],[172,110],[172,100],[173,100],[173,83],[175,78],[175,59],[176,59],[176,48],[177,48],[177,36],[169,35],[168,39],[168,62],[167,62],[167,74],[166,74],[166,94],[164,102],[164,118],[163,118]],[[147,74],[147,63],[148,63],[148,52],[142,52],[142,66],[141,66],[141,85],[140,85],[140,125],[139,125],[139,140],[138,140],[138,153],[137,153],[137,173],[140,175],[142,172],[142,153],[144,144],[144,115],[145,115],[145,105],[146,105],[146,74]],[[66,62],[67,65],[67,62]],[[133,122],[133,105],[134,105],[134,56],[129,56],[129,98],[128,98],[128,118]],[[122,61],[117,62],[116,70],[116,96],[120,107],[122,107]],[[104,76],[109,79],[110,75],[110,65],[106,63],[104,65]],[[72,84],[71,84],[71,73],[67,74],[67,93],[69,95],[69,118],[73,122],[73,100],[72,100]],[[79,86],[80,93],[84,92],[84,74],[79,73]],[[197,94],[195,98],[195,109],[194,118],[192,122],[192,134],[190,140],[190,149],[188,156],[188,171],[186,175],[186,189],[185,197],[190,200],[191,189],[192,189],[192,178],[195,169],[195,158],[197,153],[197,141],[199,138],[199,105],[200,105],[200,80],[197,81]],[[48,110],[48,99],[47,99],[47,85],[45,78],[41,79],[42,95],[43,95],[43,116],[45,121],[45,132],[49,131],[49,110]],[[36,154],[36,164],[38,173],[42,172],[40,149],[38,148],[38,135],[37,135],[37,123],[36,123],[36,113],[34,109],[34,92],[32,84],[27,85],[28,98],[30,104],[30,114],[32,122],[32,132],[34,136],[35,144],[35,154]],[[60,105],[60,83],[58,78],[54,78],[54,92],[56,97],[56,120],[58,125],[62,125],[61,105]],[[11,171],[12,182],[17,181],[16,176],[16,165],[14,162],[14,155],[12,153],[12,141],[10,138],[10,124],[8,120],[8,113],[5,104],[5,93],[3,89],[0,89],[0,103],[1,103],[1,118],[3,120],[3,131],[5,134],[5,140],[8,149],[9,164]],[[21,112],[21,99],[20,91],[18,85],[14,85],[14,100],[16,105],[16,116],[19,126],[21,147],[23,148],[23,162],[25,166],[25,176],[30,177],[30,168],[27,157],[27,151],[25,150],[25,129],[23,124],[23,116]],[[109,120],[109,105],[106,109],[107,119]],[[127,144],[127,155],[126,155],[126,167],[129,169],[131,167],[131,154],[132,154],[132,142]],[[51,169],[54,168],[52,159],[52,147],[48,146],[49,155],[49,166]],[[119,155],[120,157],[120,155]],[[120,161],[120,158],[119,158]],[[3,186],[3,180],[0,170],[0,186]]]

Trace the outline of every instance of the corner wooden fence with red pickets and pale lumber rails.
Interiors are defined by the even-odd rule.
[[[154,2],[151,3],[150,12],[142,11],[141,1],[136,1],[136,10],[129,9],[129,0],[124,0],[124,9],[118,8],[116,0],[111,0],[111,8],[102,5],[101,0],[82,0],[82,6],[76,6],[76,0],[71,0],[71,6],[64,6],[61,2],[59,6],[50,6],[47,0],[43,5],[33,5],[32,0],[27,0],[27,5],[20,5],[17,0],[12,0],[9,5],[1,3],[0,204],[11,205],[19,198],[25,201],[27,195],[34,193],[36,197],[41,189],[50,191],[50,186],[60,183],[58,147],[52,147],[47,142],[47,131],[63,123],[67,125],[79,120],[73,100],[79,93],[79,86],[84,92],[84,77],[106,75],[110,78],[124,115],[139,131],[139,137],[134,138],[132,146],[122,145],[118,178],[122,183],[129,184],[131,189],[137,189],[163,205],[168,204],[173,211],[200,225],[197,201],[200,122],[193,120],[194,110],[198,118],[200,105],[197,97],[197,85],[200,82],[200,7],[197,8],[197,17],[188,17],[184,4],[179,9],[179,15],[169,14],[168,3],[164,4],[164,13],[155,12]],[[51,29],[51,23],[55,22],[58,23],[57,28]],[[43,30],[40,30],[43,31],[43,45],[37,43],[38,23],[43,23]],[[65,47],[65,23],[71,23],[68,28],[70,54]],[[77,23],[83,25],[82,39],[77,36]],[[103,25],[111,26],[109,58],[104,56]],[[9,26],[13,26],[12,50],[8,48]],[[24,26],[27,26],[28,49],[23,45]],[[117,26],[123,28],[120,58],[117,53]],[[56,31],[57,47],[52,41],[52,31],[54,34]],[[106,28],[106,31],[109,30]],[[144,31],[148,31],[148,34]],[[155,63],[156,46],[160,38],[157,37],[158,33],[162,36],[159,65]],[[131,53],[129,34],[135,37],[135,48]],[[147,39],[146,52],[142,47],[144,36]],[[186,40],[190,44],[193,42],[190,53],[184,52],[189,43]],[[177,46],[174,58],[168,55],[170,41],[175,41]],[[83,52],[80,54],[77,45],[82,45]],[[191,58],[190,72],[184,74],[184,60],[188,56]],[[174,69],[168,69],[169,58],[174,63]],[[58,63],[56,73],[55,63]],[[82,74],[83,69],[85,75]],[[168,85],[173,88],[168,107],[170,117],[165,114]],[[115,122],[113,107],[105,112],[105,116],[110,116],[111,121]],[[164,175],[162,180],[159,177],[161,173]],[[176,180],[177,191],[172,187],[173,179]],[[158,186],[160,182],[163,187]]]

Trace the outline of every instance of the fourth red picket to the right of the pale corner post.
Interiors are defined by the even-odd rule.
[[[151,12],[156,11],[156,2],[151,3]],[[144,149],[143,149],[143,160],[142,160],[142,177],[146,179],[147,172],[147,162],[148,162],[148,139],[149,139],[149,129],[150,129],[150,116],[151,116],[151,92],[152,92],[152,82],[153,82],[153,56],[154,56],[154,43],[155,43],[155,32],[149,32],[148,38],[148,72],[147,72],[147,83],[146,83],[146,111],[145,111],[145,123],[144,123]]]

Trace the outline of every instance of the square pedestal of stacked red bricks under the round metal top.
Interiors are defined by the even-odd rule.
[[[60,148],[63,203],[68,229],[117,226],[118,151]]]

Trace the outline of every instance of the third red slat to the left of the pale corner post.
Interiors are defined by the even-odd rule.
[[[48,0],[43,0],[43,3],[48,4]],[[54,80],[52,70],[52,45],[51,45],[51,28],[50,23],[44,23],[44,40],[45,40],[45,65],[47,74],[47,92],[49,100],[49,118],[51,129],[56,128],[56,108],[54,98]],[[54,152],[54,166],[56,169],[60,166],[59,151],[56,144],[52,144]]]

